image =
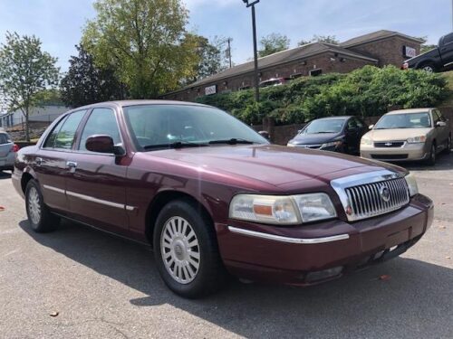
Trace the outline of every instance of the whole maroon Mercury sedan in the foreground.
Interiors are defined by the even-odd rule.
[[[63,217],[150,243],[184,297],[215,291],[226,272],[337,278],[400,255],[433,217],[400,167],[269,145],[217,108],[171,101],[73,109],[18,152],[13,183],[34,231]]]

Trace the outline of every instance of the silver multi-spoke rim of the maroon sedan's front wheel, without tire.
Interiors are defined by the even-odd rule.
[[[190,223],[181,217],[165,222],[160,235],[160,252],[171,278],[180,284],[192,282],[200,267],[197,234]]]

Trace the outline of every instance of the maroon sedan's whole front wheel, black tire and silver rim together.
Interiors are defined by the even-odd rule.
[[[169,202],[159,213],[153,237],[160,277],[181,297],[205,297],[226,282],[214,225],[186,200]]]

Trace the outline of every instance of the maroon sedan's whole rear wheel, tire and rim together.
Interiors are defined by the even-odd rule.
[[[50,212],[44,204],[43,194],[38,182],[30,180],[25,188],[25,206],[28,223],[33,231],[44,233],[53,231],[60,223],[60,218]]]

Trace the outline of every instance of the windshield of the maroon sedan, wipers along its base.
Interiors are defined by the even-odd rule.
[[[166,146],[268,144],[252,128],[217,108],[139,105],[124,108],[124,115],[140,150]]]

